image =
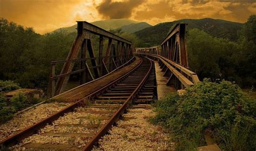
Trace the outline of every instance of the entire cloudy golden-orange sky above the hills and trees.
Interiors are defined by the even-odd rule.
[[[210,17],[245,23],[253,14],[256,0],[0,0],[0,17],[41,34],[77,20],[127,18],[156,25]]]

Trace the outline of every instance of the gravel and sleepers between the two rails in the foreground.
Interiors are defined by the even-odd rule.
[[[37,134],[25,138],[21,143],[12,146],[10,149],[27,149],[26,146],[29,143],[36,143],[57,145],[57,148],[51,148],[57,150],[61,149],[58,147],[62,145],[70,147],[65,149],[72,150],[75,148],[79,150],[79,148],[86,145],[115,111],[115,108],[78,107],[74,112],[64,114],[64,116],[59,117],[51,125],[46,125]],[[37,146],[37,148],[33,149],[42,148]]]

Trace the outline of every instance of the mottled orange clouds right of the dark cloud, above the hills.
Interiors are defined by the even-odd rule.
[[[157,24],[156,18],[173,21],[210,17],[244,23],[255,13],[255,0],[147,0],[147,3],[133,12],[132,19],[147,21],[153,25]]]

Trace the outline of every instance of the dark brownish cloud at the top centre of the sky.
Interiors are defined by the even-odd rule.
[[[104,18],[129,18],[132,15],[132,10],[144,1],[145,0],[130,0],[124,2],[112,2],[112,0],[104,0],[96,7],[96,9]]]

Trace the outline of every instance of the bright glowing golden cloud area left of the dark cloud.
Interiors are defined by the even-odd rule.
[[[0,0],[0,17],[46,33],[76,24],[76,20],[94,21],[98,13],[91,0]],[[90,15],[93,14],[93,16]]]

